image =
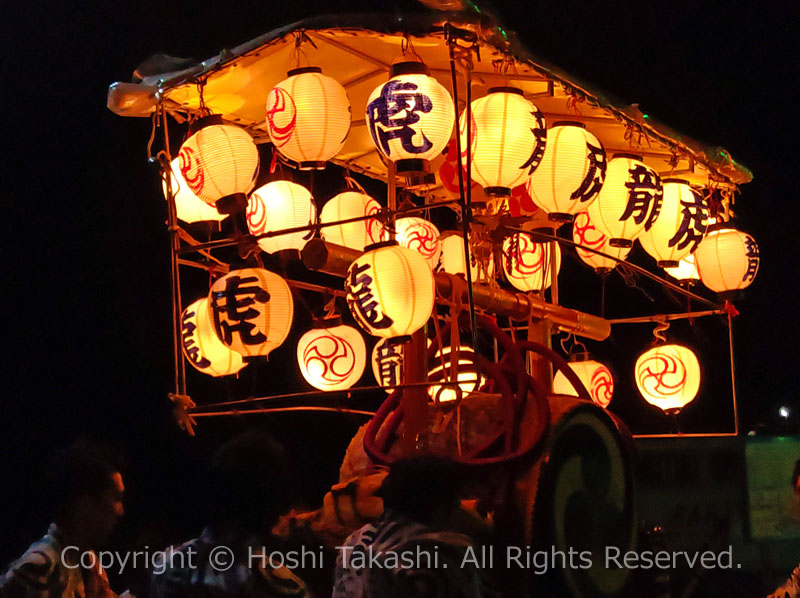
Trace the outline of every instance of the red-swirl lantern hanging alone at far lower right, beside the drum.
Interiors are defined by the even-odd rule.
[[[657,345],[636,360],[636,386],[645,401],[667,413],[677,412],[697,396],[700,363],[683,345]]]

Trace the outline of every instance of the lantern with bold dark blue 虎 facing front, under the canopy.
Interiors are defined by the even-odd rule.
[[[421,62],[392,65],[389,81],[367,101],[367,126],[375,147],[398,173],[428,170],[453,133],[455,109],[445,87]]]

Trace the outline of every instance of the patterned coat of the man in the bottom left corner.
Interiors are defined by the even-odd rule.
[[[0,598],[116,598],[97,558],[85,558],[93,567],[78,566],[77,550],[63,555],[64,540],[53,523],[5,575],[0,577]],[[96,556],[96,555],[95,555]]]

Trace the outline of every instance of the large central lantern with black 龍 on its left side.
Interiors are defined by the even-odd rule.
[[[433,272],[419,253],[386,244],[359,256],[345,278],[347,305],[359,326],[381,338],[407,337],[433,312]]]

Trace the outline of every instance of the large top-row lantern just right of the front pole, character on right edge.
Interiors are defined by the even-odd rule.
[[[461,113],[461,146],[472,152],[471,176],[487,195],[509,196],[524,183],[545,153],[544,116],[516,87],[494,87],[471,104],[471,143],[466,111]]]

